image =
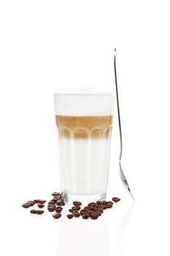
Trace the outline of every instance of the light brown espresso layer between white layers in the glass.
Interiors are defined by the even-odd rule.
[[[108,138],[112,116],[55,116],[60,138]]]

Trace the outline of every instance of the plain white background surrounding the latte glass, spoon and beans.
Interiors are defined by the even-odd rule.
[[[169,255],[169,1],[0,1],[1,255]],[[21,204],[59,190],[53,92],[112,90],[108,199],[96,222],[31,216]],[[120,186],[118,186],[118,184]]]

